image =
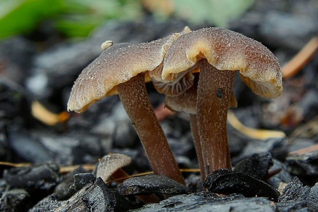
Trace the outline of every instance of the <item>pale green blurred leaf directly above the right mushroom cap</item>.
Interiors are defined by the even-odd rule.
[[[216,26],[227,27],[228,22],[242,15],[254,0],[172,0],[175,14],[198,24],[208,21]]]

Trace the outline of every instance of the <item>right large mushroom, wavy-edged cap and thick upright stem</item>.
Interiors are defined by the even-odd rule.
[[[282,93],[279,62],[264,45],[240,33],[204,28],[172,43],[164,59],[162,82],[183,81],[178,74],[193,67],[200,68],[195,111],[204,167],[209,173],[231,169],[226,119],[235,71],[240,71],[254,93],[275,98]]]

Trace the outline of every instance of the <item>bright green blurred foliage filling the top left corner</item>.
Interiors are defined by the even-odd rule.
[[[0,0],[0,38],[31,32],[47,18],[67,36],[87,36],[105,20],[142,15],[135,0]]]

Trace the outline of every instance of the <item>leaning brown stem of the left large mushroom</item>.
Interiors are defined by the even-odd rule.
[[[116,87],[128,117],[144,146],[154,174],[164,175],[185,184],[148,99],[144,73],[137,74]]]

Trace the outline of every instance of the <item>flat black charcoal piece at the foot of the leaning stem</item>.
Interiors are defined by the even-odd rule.
[[[147,195],[153,193],[180,195],[187,194],[189,188],[165,176],[150,175],[129,178],[118,185],[121,195]]]

